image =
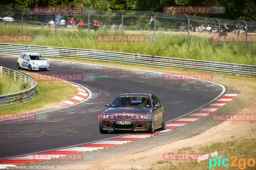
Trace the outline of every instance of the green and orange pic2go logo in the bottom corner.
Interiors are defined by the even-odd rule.
[[[220,156],[218,156],[218,166],[220,166],[220,163],[222,164],[222,166],[229,166],[229,160],[228,159],[222,159],[222,161],[220,160]],[[234,161],[230,164],[230,166],[237,166],[236,161],[237,161],[237,157],[236,156],[231,156],[230,159],[234,159]],[[214,162],[212,164],[212,162]],[[242,163],[243,162],[243,163]],[[252,162],[252,164],[251,164]],[[217,160],[216,159],[209,159],[209,169],[212,169],[212,167],[217,165]],[[254,159],[248,159],[247,160],[247,165],[248,166],[254,166],[255,165],[255,160]],[[238,160],[238,168],[239,169],[245,169],[246,168],[246,159],[239,159]]]

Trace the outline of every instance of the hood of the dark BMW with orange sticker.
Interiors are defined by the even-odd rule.
[[[114,108],[109,108],[105,110],[105,114],[146,114],[148,111],[150,111],[151,108],[145,108],[145,107],[127,107],[127,106],[122,106],[122,107],[114,107]]]

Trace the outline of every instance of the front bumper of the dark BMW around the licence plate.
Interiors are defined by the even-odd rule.
[[[131,124],[116,124],[116,121],[120,120],[100,120],[101,129],[106,131],[148,131],[151,122],[150,120],[140,120],[131,121]]]

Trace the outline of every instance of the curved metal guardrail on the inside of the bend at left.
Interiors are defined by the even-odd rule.
[[[29,76],[28,74],[4,66],[0,66],[0,70],[2,70],[3,73],[7,74],[8,77],[13,77],[14,81],[20,81],[20,84],[22,82],[27,81],[27,85],[31,86],[27,90],[0,96],[0,106],[26,102],[32,97],[36,96],[37,82],[33,77]]]

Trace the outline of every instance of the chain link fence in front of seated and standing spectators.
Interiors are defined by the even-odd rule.
[[[169,33],[177,35],[188,35],[188,45],[193,39],[204,36],[211,38],[212,35],[219,35],[219,46],[221,46],[220,36],[237,35],[246,36],[244,44],[246,48],[255,48],[251,46],[252,42],[248,42],[248,35],[256,35],[256,22],[243,20],[227,20],[219,18],[196,17],[186,14],[165,14],[160,12],[149,11],[95,11],[84,8],[80,14],[61,14],[65,24],[57,24],[56,16],[58,14],[35,14],[33,9],[16,9],[16,8],[0,8],[0,17],[12,17],[14,21],[8,22],[0,20],[0,29],[6,26],[8,30],[5,32],[10,34],[29,34],[29,28],[33,28],[33,35],[47,35],[49,29],[54,30],[55,35],[66,31],[83,31],[87,35],[90,33],[99,33],[107,31],[116,31],[116,34],[138,34],[147,33],[152,39],[156,39],[158,33]],[[68,22],[74,18],[75,24],[68,25]],[[152,18],[152,19],[151,19]],[[54,24],[49,24],[50,20]],[[83,20],[86,25],[83,29],[78,23]],[[94,26],[94,20],[100,22],[100,26]],[[150,22],[151,21],[151,22]],[[89,25],[89,26],[88,26]],[[224,26],[227,25],[228,30],[223,32]],[[233,32],[238,27],[243,26],[244,32]],[[202,27],[202,29],[200,28]],[[211,27],[211,30],[206,30]],[[19,29],[17,29],[19,28]],[[213,31],[214,30],[214,31]],[[84,33],[84,34],[85,34]],[[84,36],[84,35],[83,35]],[[195,38],[196,37],[196,38]]]

